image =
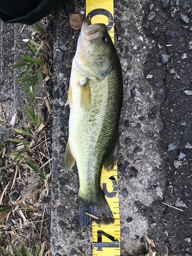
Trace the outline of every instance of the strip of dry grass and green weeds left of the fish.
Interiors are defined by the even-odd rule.
[[[42,27],[47,27],[44,33],[38,33],[39,27],[33,28],[32,39],[24,40],[32,45],[28,44],[31,51],[26,50],[26,56],[33,51],[30,58],[35,60],[23,55],[16,63],[30,67],[19,81],[28,81],[25,91],[29,90],[30,103],[26,100],[23,113],[15,116],[0,106],[0,125],[5,131],[0,140],[0,255],[21,256],[27,250],[28,255],[50,255],[53,16],[42,20]],[[36,96],[37,82],[45,89],[45,98]],[[41,108],[39,100],[44,100]]]

